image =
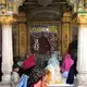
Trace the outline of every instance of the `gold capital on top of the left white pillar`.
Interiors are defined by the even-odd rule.
[[[1,24],[12,24],[16,20],[12,15],[0,15]]]

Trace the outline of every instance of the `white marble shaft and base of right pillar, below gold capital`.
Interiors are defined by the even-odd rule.
[[[77,87],[87,87],[87,27],[78,30]]]

